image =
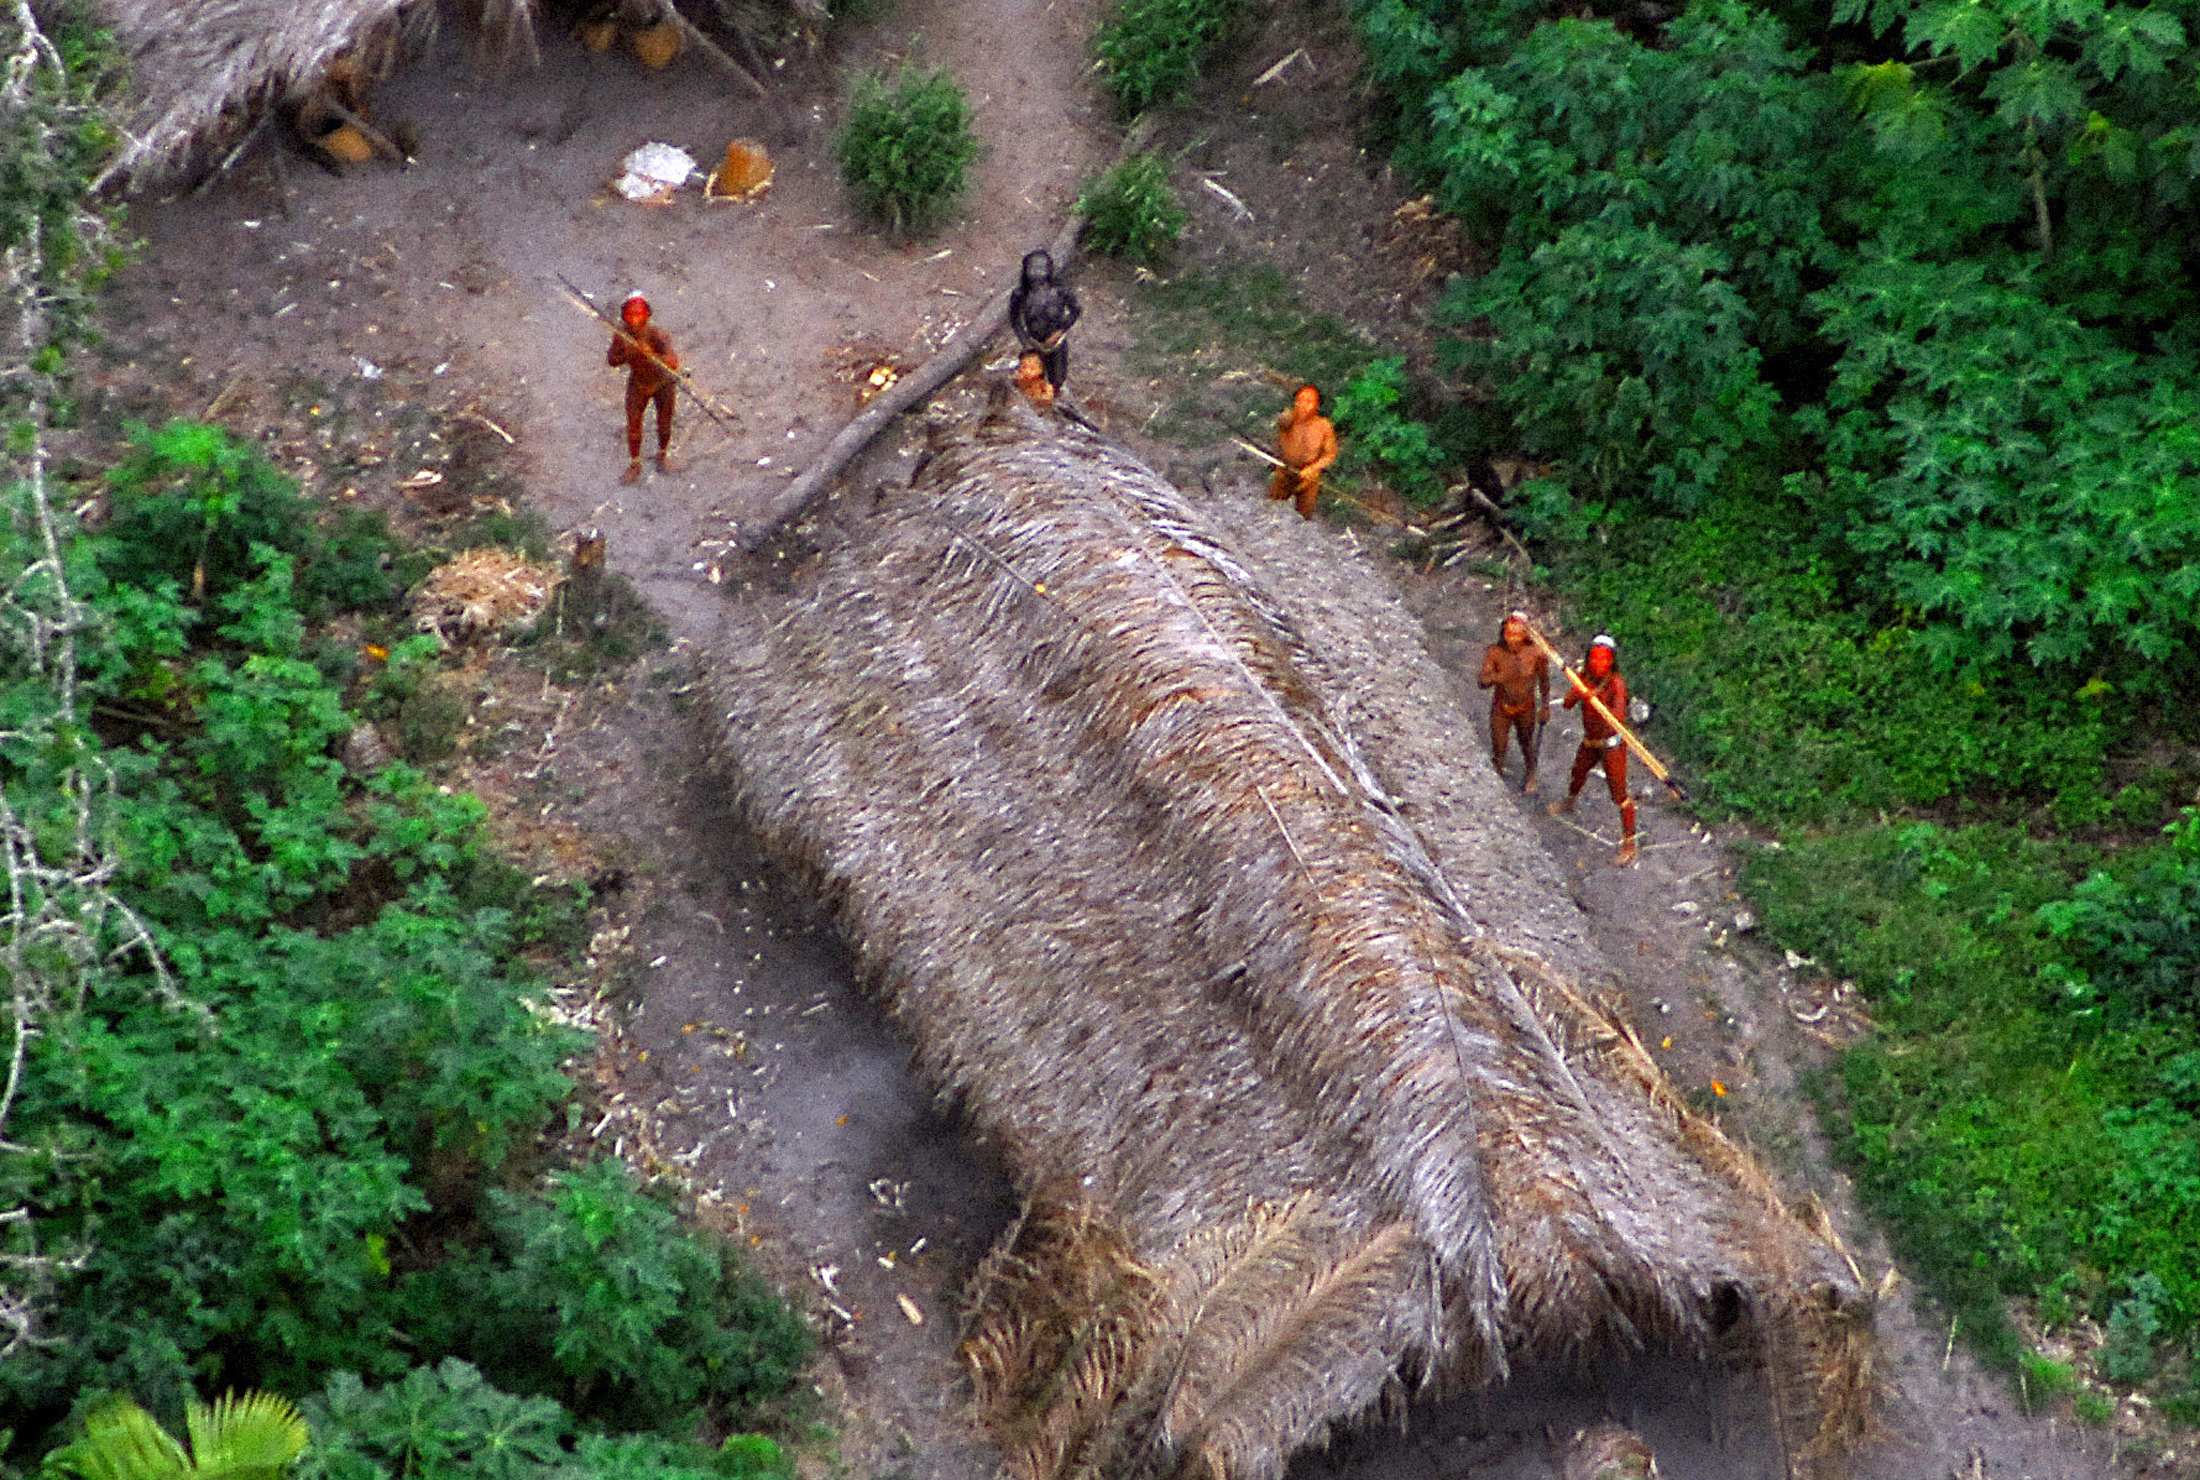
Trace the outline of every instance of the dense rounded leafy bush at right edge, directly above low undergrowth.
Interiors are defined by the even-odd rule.
[[[1813,306],[1841,347],[1848,541],[1943,618],[1938,655],[2160,686],[2200,640],[2200,367],[2083,325],[2009,257],[1866,259]]]

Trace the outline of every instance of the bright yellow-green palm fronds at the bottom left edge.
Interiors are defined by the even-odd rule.
[[[185,1449],[125,1396],[84,1414],[84,1436],[46,1456],[44,1473],[75,1480],[282,1480],[306,1454],[310,1434],[288,1399],[224,1394],[213,1407],[185,1405]]]

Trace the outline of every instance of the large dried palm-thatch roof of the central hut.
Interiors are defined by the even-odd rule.
[[[1558,880],[1373,567],[1230,512],[997,402],[733,614],[746,814],[1027,1199],[966,1339],[1010,1471],[1278,1476],[1643,1344],[1742,1341],[1839,1440],[1855,1267],[1553,963]]]

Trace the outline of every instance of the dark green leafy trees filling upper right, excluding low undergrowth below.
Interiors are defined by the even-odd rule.
[[[1355,7],[1399,158],[1496,257],[1454,367],[1580,517],[1808,475],[1844,603],[1943,666],[2160,688],[2200,638],[2200,7],[1467,9]]]

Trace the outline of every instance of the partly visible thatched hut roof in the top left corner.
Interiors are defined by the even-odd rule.
[[[130,64],[117,119],[114,178],[180,167],[202,145],[249,128],[275,99],[361,53],[383,70],[405,40],[438,22],[438,0],[95,0]],[[460,9],[499,55],[530,53],[537,0],[466,0]]]

